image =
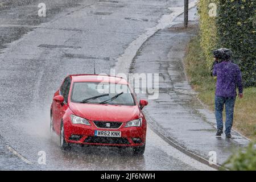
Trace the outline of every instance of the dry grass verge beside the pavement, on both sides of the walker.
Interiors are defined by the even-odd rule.
[[[188,80],[199,99],[214,110],[216,78],[210,76],[209,67],[200,47],[200,38],[192,38],[187,47],[184,64]],[[256,139],[256,88],[245,88],[244,97],[236,101],[234,128],[250,139]],[[225,113],[225,112],[224,112]]]

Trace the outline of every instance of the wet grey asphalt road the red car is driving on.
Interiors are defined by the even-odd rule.
[[[46,18],[36,16],[37,3],[0,13],[0,169],[212,169],[150,129],[141,157],[108,147],[63,153],[59,138],[49,135],[49,106],[65,76],[93,73],[93,61],[97,73],[109,73],[134,39],[183,2],[45,2],[51,7]],[[39,151],[46,152],[46,165],[38,164]]]

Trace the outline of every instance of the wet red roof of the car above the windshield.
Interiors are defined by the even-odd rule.
[[[92,74],[79,74],[69,75],[73,82],[111,82],[127,85],[128,82],[122,77],[115,77],[109,75],[92,75]]]

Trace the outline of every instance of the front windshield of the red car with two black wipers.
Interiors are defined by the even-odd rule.
[[[109,82],[74,82],[71,101],[87,104],[135,105],[127,85]]]

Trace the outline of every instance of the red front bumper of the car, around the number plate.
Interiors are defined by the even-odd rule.
[[[67,143],[96,145],[96,146],[143,146],[146,143],[146,121],[141,127],[124,127],[119,129],[98,128],[93,122],[91,126],[73,124],[67,121],[64,124],[65,140]],[[121,137],[97,137],[94,132],[98,131],[121,131]]]

